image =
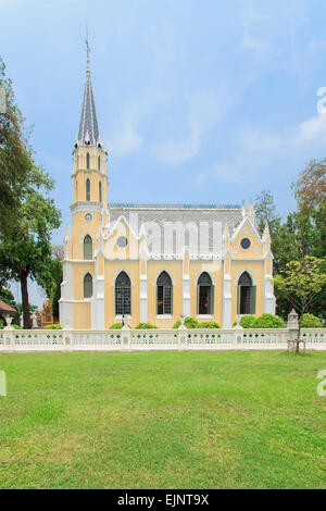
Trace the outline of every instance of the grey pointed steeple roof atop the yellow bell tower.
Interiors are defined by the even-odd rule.
[[[87,50],[87,71],[86,71],[86,85],[84,92],[83,110],[80,116],[79,132],[77,141],[82,146],[97,146],[100,142],[100,133],[98,125],[97,111],[90,79],[89,66],[89,45],[86,40]]]

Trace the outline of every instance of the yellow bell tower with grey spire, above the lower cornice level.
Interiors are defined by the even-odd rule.
[[[100,214],[108,204],[108,151],[101,141],[93,99],[89,45],[86,40],[87,71],[78,135],[73,148],[72,259],[85,259],[83,244],[90,236],[95,248]],[[90,259],[89,257],[87,259]],[[93,259],[93,253],[91,256]]]

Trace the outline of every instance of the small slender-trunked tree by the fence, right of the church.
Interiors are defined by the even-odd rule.
[[[312,256],[305,256],[301,261],[291,261],[275,276],[274,284],[299,312],[298,339],[300,339],[303,314],[310,311],[326,285],[323,261]]]

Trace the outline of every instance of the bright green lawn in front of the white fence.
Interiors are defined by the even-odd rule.
[[[325,488],[326,352],[0,354],[1,488]]]

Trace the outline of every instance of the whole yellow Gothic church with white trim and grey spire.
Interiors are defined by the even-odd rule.
[[[261,237],[251,202],[113,203],[106,163],[88,62],[64,237],[64,327],[106,329],[122,316],[133,327],[172,327],[183,314],[227,328],[236,315],[275,313],[268,226]]]

